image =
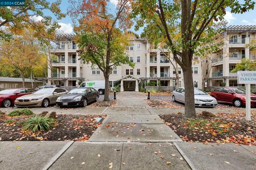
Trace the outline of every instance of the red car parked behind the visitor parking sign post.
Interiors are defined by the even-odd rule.
[[[210,94],[220,103],[233,104],[236,107],[245,106],[245,89],[233,87],[213,88]],[[256,95],[251,94],[251,106],[256,106]]]

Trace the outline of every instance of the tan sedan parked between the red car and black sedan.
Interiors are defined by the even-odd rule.
[[[62,88],[44,88],[37,90],[34,94],[17,98],[14,104],[17,107],[48,107],[51,104],[55,104],[57,98],[67,92],[67,90]]]

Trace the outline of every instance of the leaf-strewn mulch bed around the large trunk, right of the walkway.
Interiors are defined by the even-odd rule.
[[[255,111],[252,111],[252,121],[246,121],[245,113],[239,111],[218,113],[214,118],[199,114],[195,119],[187,119],[183,114],[160,117],[183,141],[256,145]]]

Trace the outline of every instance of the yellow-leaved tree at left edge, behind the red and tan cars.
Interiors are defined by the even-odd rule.
[[[2,40],[0,58],[6,67],[17,70],[25,88],[25,75],[41,56],[37,39],[31,36],[31,31],[24,30],[22,36],[15,36],[9,41]]]

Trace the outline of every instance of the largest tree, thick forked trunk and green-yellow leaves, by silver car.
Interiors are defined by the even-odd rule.
[[[142,36],[157,42],[155,44],[164,41],[181,66],[186,89],[186,117],[196,116],[191,69],[193,55],[203,55],[207,48],[199,48],[201,44],[214,44],[214,37],[223,31],[218,21],[224,20],[226,7],[232,13],[244,13],[253,9],[254,4],[251,0],[245,0],[243,4],[238,0],[137,0],[132,3],[131,16],[137,21],[135,28],[145,26]],[[175,38],[177,35],[179,39]]]

